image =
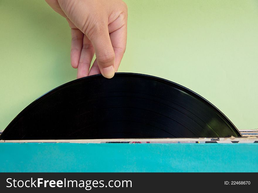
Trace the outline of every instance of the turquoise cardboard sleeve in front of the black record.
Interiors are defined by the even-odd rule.
[[[258,172],[258,143],[0,143],[0,172]]]

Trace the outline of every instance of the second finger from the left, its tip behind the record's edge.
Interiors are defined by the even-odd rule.
[[[94,48],[86,35],[83,37],[82,51],[79,59],[77,78],[88,76],[91,61],[94,56]]]

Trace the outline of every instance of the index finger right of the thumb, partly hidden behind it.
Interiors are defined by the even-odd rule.
[[[115,52],[115,72],[117,72],[126,49],[127,25],[125,24],[118,30],[113,31],[110,34],[110,39]]]

